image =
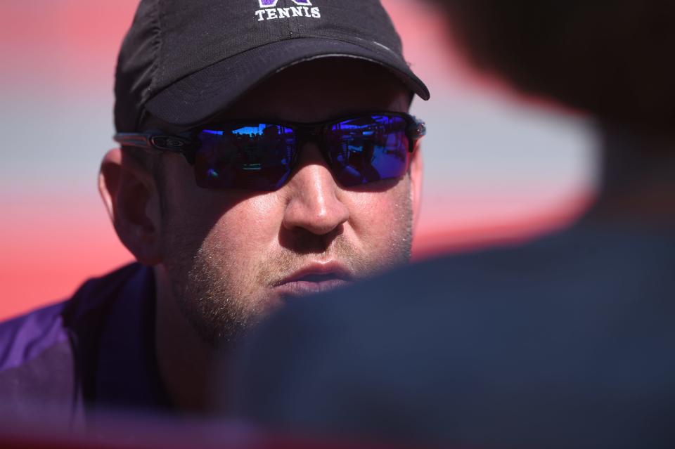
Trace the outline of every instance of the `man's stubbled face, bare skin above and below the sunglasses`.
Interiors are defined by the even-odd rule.
[[[371,63],[319,60],[276,74],[212,122],[319,122],[407,112],[409,93]],[[286,297],[345,285],[408,261],[411,176],[345,188],[317,143],[274,192],[207,190],[162,155],[162,278],[205,341],[231,339]],[[417,182],[417,180],[415,180]]]

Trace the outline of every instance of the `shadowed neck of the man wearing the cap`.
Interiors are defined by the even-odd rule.
[[[162,382],[176,410],[205,413],[212,405],[215,351],[181,313],[161,266],[155,267],[155,280],[155,347]]]

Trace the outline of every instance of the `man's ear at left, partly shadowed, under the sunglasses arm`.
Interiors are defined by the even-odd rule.
[[[160,263],[162,214],[148,170],[120,148],[110,150],[101,162],[98,191],[122,244],[143,264]]]

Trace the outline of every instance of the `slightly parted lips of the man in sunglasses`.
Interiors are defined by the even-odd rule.
[[[353,282],[354,277],[338,263],[312,263],[274,285],[282,297],[326,292]]]

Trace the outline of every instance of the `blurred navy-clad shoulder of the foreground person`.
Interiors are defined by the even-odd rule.
[[[252,334],[229,403],[257,422],[413,441],[462,429],[475,443],[485,425],[548,441],[560,422],[604,435],[671,403],[674,248],[673,233],[584,224],[291,301]]]

